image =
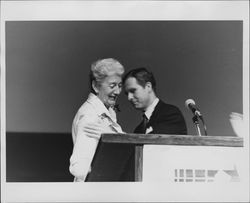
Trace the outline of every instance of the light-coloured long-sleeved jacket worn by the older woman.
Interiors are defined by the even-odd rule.
[[[75,176],[74,181],[85,181],[91,171],[93,160],[99,140],[85,135],[83,132],[86,123],[99,123],[109,127],[114,133],[123,133],[116,121],[116,113],[112,108],[109,110],[102,101],[90,93],[87,101],[80,107],[72,125],[73,153],[70,157],[70,173]]]

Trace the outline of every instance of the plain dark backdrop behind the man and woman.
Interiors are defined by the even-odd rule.
[[[243,109],[242,34],[242,21],[7,22],[7,180],[71,178],[71,124],[89,93],[90,64],[100,58],[116,58],[126,71],[140,66],[151,69],[158,96],[181,109],[190,135],[196,132],[184,103],[192,98],[204,115],[209,135],[235,136],[229,114]],[[118,102],[118,122],[124,131],[132,132],[141,115],[123,93]],[[23,139],[27,142],[21,144]],[[32,169],[32,164],[39,163],[36,146],[50,151],[41,155],[41,167]],[[27,153],[22,154],[23,149]],[[66,153],[61,161],[50,156],[55,150]],[[52,175],[42,178],[49,162]],[[55,178],[53,170],[63,173]]]

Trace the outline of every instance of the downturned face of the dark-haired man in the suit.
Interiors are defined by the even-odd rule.
[[[145,110],[149,105],[149,87],[141,86],[134,77],[129,77],[124,83],[125,93],[130,103],[139,110]]]

